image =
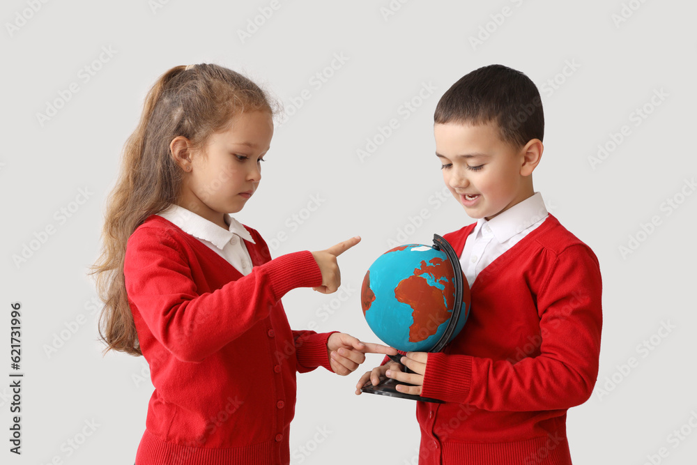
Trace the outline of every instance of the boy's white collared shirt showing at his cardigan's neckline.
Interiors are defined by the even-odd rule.
[[[519,243],[549,216],[542,194],[535,194],[487,221],[477,220],[460,255],[460,264],[470,287],[477,275]]]

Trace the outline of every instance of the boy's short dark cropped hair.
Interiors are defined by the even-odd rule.
[[[489,65],[452,84],[436,106],[434,123],[498,125],[503,142],[519,148],[542,140],[542,99],[529,77],[503,65]]]

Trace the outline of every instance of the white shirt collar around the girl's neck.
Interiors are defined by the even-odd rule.
[[[229,213],[225,215],[225,220],[230,225],[227,231],[214,222],[208,221],[206,218],[176,204],[172,204],[164,211],[158,213],[158,215],[162,216],[165,220],[173,222],[185,233],[213,243],[213,245],[220,250],[229,243],[230,239],[235,234],[245,239],[245,241],[254,244],[254,239],[252,239],[252,235],[249,231],[245,229],[242,223],[232,218]]]

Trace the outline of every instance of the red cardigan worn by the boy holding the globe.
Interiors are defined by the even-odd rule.
[[[445,235],[458,256],[470,224]],[[429,353],[420,465],[569,465],[567,409],[595,386],[602,327],[595,254],[549,215],[477,275],[462,332]]]

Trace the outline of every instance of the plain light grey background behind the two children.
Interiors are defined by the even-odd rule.
[[[339,259],[351,294],[346,302],[298,289],[284,297],[284,306],[293,328],[316,325],[364,340],[376,337],[362,317],[358,294],[378,254],[392,241],[430,243],[434,232],[472,221],[454,199],[441,203],[431,197],[443,190],[432,133],[436,102],[480,66],[503,63],[526,73],[540,89],[546,116],[535,190],[549,211],[592,247],[604,279],[598,383],[567,420],[574,463],[643,464],[661,448],[661,463],[694,463],[697,432],[688,421],[697,425],[691,230],[697,196],[680,198],[682,189],[692,192],[686,180],[697,172],[694,3],[392,1],[399,9],[386,15],[387,0],[281,0],[262,21],[259,8],[270,3],[3,2],[1,461],[133,462],[152,390],[147,365],[142,358],[100,353],[95,290],[86,266],[98,257],[105,196],[146,92],[171,66],[213,62],[263,85],[286,111],[309,90],[311,98],[277,125],[261,189],[236,218],[270,243],[285,232],[287,239],[272,247],[274,256],[320,250],[360,234],[362,243]],[[628,17],[615,24],[613,15],[623,8]],[[22,23],[24,17],[29,19]],[[238,30],[255,17],[263,24],[241,40]],[[473,47],[470,37],[480,28],[491,31],[489,38]],[[112,56],[102,54],[102,47],[110,47]],[[92,64],[100,54],[104,62]],[[311,79],[335,54],[348,60],[327,70],[332,76],[318,89]],[[100,68],[89,81],[81,72],[85,66]],[[46,112],[47,102],[60,100],[61,92],[66,95],[72,83],[79,91],[40,123],[37,114]],[[404,119],[402,105],[418,102],[424,83],[436,90]],[[650,105],[661,89],[667,96],[659,106]],[[636,125],[635,109],[644,105],[652,113]],[[357,150],[393,118],[399,128],[361,161]],[[629,135],[592,167],[589,158],[599,144],[611,142],[623,125]],[[80,189],[91,192],[83,204],[75,202]],[[312,196],[322,199],[321,206],[305,215]],[[684,201],[668,214],[666,199]],[[56,214],[61,208],[72,208],[70,218]],[[423,209],[429,218],[408,227],[419,224],[415,218]],[[306,219],[292,226],[293,215]],[[657,226],[641,234],[641,224],[652,218]],[[54,234],[17,266],[13,256],[51,226]],[[400,235],[405,230],[411,234]],[[628,246],[630,236],[642,241],[623,256],[620,247]],[[16,301],[22,303],[25,374],[21,457],[8,452],[6,439],[9,312]],[[78,319],[84,324],[75,323]],[[661,337],[664,323],[675,328]],[[47,352],[61,331],[67,335],[75,324],[75,333]],[[652,336],[652,350],[641,349]],[[635,366],[622,369],[631,357]],[[379,360],[369,356],[363,367]],[[298,376],[293,463],[416,463],[420,434],[414,404],[356,397],[353,386],[362,371],[340,377],[319,369]],[[86,422],[98,426],[77,450],[69,448],[68,439]],[[676,440],[671,435],[681,427],[682,434],[692,434]]]

